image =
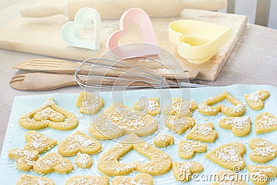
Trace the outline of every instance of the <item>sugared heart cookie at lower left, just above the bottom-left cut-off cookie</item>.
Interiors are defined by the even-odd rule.
[[[48,153],[39,157],[33,166],[33,171],[39,174],[62,173],[66,174],[73,171],[73,164],[69,159],[56,153]]]

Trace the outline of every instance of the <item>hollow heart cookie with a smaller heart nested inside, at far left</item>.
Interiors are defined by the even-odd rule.
[[[78,126],[78,118],[57,106],[50,98],[36,110],[22,115],[19,125],[28,130],[39,130],[47,126],[56,130],[71,130]]]

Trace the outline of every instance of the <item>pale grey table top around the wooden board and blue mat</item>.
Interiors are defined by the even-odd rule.
[[[10,13],[5,13],[7,6],[18,6],[19,0],[0,0],[0,27],[10,19]],[[16,11],[16,10],[15,10]],[[17,12],[13,12],[17,14]],[[10,50],[0,50],[0,148],[8,126],[12,102],[15,96],[44,95],[50,93],[78,93],[82,88],[73,86],[57,90],[28,92],[12,89],[10,79],[23,71],[13,70],[12,66],[19,61],[39,58],[33,55]],[[197,81],[209,86],[227,86],[231,84],[264,84],[277,86],[277,30],[248,24],[247,28],[231,56],[226,61],[222,71],[213,82]]]

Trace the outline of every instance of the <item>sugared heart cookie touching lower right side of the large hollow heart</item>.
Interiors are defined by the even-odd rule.
[[[181,182],[188,182],[194,173],[204,170],[198,162],[172,162],[172,171],[175,179]]]

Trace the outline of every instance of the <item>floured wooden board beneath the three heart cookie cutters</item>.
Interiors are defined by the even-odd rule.
[[[177,19],[193,19],[229,26],[232,28],[233,37],[229,43],[226,43],[226,45],[220,48],[210,61],[204,64],[190,64],[186,59],[179,57],[177,46],[170,43],[168,40],[168,24]],[[198,75],[191,76],[190,78],[208,81],[215,80],[247,24],[247,17],[243,15],[193,9],[185,9],[181,17],[152,18],[151,20],[159,46],[166,48],[166,50],[175,55],[186,70],[197,71],[195,74]],[[62,41],[60,37],[60,28],[67,21],[69,21],[69,18],[62,14],[35,19],[16,18],[1,28],[0,48],[83,61],[90,57],[100,57],[105,53],[107,51],[105,48],[107,37],[119,28],[119,20],[102,21],[101,50],[93,51],[83,48],[74,48],[66,45],[66,43]],[[128,35],[121,39],[121,42],[139,41],[139,37],[139,30],[136,29],[136,26],[129,26]]]

